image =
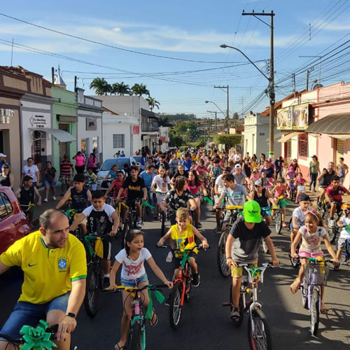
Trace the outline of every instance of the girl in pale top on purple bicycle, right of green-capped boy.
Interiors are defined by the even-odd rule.
[[[292,258],[300,257],[301,266],[299,269],[299,274],[295,281],[290,285],[290,291],[295,294],[297,290],[300,288],[300,284],[302,283],[302,279],[304,278],[304,266],[309,263],[308,258],[323,258],[323,251],[321,250],[321,239],[323,238],[325,242],[325,247],[328,250],[328,253],[332,255],[332,258],[335,263],[339,264],[339,260],[337,255],[335,255],[335,251],[333,251],[332,245],[328,239],[327,232],[323,227],[323,218],[316,210],[307,211],[305,214],[305,225],[302,226],[297,232],[297,236],[295,237],[292,246],[291,246],[291,255]],[[299,243],[300,239],[302,239],[302,245],[299,249],[299,255],[296,253],[296,247]],[[328,309],[325,307],[325,303],[323,302],[324,297],[324,286],[321,286],[321,313],[327,314]]]

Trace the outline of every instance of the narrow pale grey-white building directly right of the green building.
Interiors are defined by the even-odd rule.
[[[84,90],[76,88],[76,102],[78,104],[78,149],[85,151],[85,155],[94,153],[102,164],[106,159],[102,154],[102,101],[94,97],[85,96]]]

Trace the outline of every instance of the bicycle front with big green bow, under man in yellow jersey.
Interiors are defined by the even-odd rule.
[[[52,342],[55,340],[55,334],[58,330],[58,324],[49,325],[46,321],[40,320],[36,328],[30,325],[23,325],[20,329],[20,339],[12,339],[7,335],[0,335],[6,339],[6,342],[15,347],[15,349],[23,350],[52,350],[57,345]],[[1,342],[1,340],[0,340]]]

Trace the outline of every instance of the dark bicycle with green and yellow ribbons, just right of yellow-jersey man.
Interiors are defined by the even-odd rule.
[[[109,239],[109,235],[85,235],[78,237],[86,251],[87,274],[84,307],[86,313],[93,317],[97,312],[99,290],[103,288],[104,271],[101,260],[104,257],[103,239]]]

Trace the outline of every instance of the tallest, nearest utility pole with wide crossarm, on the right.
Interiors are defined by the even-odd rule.
[[[271,13],[245,13],[243,11],[242,15],[254,16],[260,22],[265,23],[267,27],[270,28],[270,60],[269,60],[269,157],[274,158],[274,11]],[[258,16],[270,16],[271,23],[263,21]]]

